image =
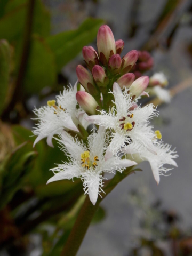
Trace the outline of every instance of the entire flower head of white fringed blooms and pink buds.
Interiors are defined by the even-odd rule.
[[[38,123],[34,129],[35,144],[47,138],[49,146],[54,137],[68,161],[51,169],[54,176],[47,182],[81,178],[85,194],[93,204],[103,191],[104,173],[123,172],[127,167],[149,161],[154,178],[170,169],[164,164],[177,166],[177,154],[164,145],[159,131],[153,131],[150,120],[158,116],[153,104],[138,105],[142,95],[148,95],[148,85],[155,85],[156,77],[135,75],[135,63],[140,58],[140,69],[151,65],[147,53],[135,50],[121,58],[122,40],[115,41],[107,25],[100,27],[97,36],[98,51],[83,47],[87,65],[78,65],[78,81],[64,89],[56,100],[34,110]],[[137,65],[136,65],[137,66]],[[162,84],[165,82],[161,80]],[[79,83],[78,83],[79,82]],[[91,125],[92,130],[87,130]],[[73,132],[71,132],[73,131]],[[73,134],[73,136],[72,136]],[[74,135],[75,134],[75,135]]]

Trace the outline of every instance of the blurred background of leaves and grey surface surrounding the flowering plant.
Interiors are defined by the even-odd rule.
[[[83,203],[79,180],[46,185],[62,152],[33,148],[33,109],[76,82],[82,47],[106,23],[123,55],[149,51],[169,80],[153,121],[178,168],[156,185],[148,163],[106,197],[78,256],[192,255],[191,0],[0,0],[0,255],[60,255]],[[85,65],[84,65],[85,66]],[[147,103],[148,99],[143,99]],[[151,100],[151,98],[149,99]],[[55,143],[56,146],[56,143]]]

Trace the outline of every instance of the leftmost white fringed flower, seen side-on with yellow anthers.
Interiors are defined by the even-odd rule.
[[[68,89],[64,89],[62,93],[60,92],[60,95],[56,96],[57,104],[55,100],[51,100],[47,102],[47,106],[34,109],[34,113],[37,115],[37,118],[34,119],[39,121],[33,131],[38,136],[34,142],[34,146],[39,140],[47,137],[47,144],[53,147],[53,135],[62,132],[63,129],[78,132],[74,124],[74,122],[77,123],[76,92],[77,83],[74,89],[70,86]]]

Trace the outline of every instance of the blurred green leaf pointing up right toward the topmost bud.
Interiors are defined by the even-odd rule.
[[[88,18],[78,29],[65,31],[46,39],[47,44],[55,54],[58,71],[75,58],[84,45],[95,39],[102,23],[103,20],[101,19]]]

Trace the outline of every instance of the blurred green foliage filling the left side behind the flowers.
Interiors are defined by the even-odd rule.
[[[45,141],[33,148],[33,133],[19,124],[12,125],[12,113],[21,113],[19,123],[28,111],[26,100],[33,94],[41,94],[44,87],[59,91],[61,69],[95,39],[102,23],[101,19],[87,18],[77,29],[51,35],[51,15],[42,1],[0,1],[0,114],[3,121],[10,123],[6,126],[0,122],[0,155],[4,154],[0,158],[0,245],[13,247],[15,253],[18,245],[14,241],[19,239],[25,247],[23,235],[34,230],[42,234],[43,245],[49,241],[45,255],[57,255],[84,197],[79,179],[46,185],[53,175],[49,169],[65,161],[66,156],[55,141],[54,148]],[[8,140],[14,147],[8,148]],[[100,209],[95,221],[104,216]],[[52,236],[42,233],[42,223],[54,226]]]

